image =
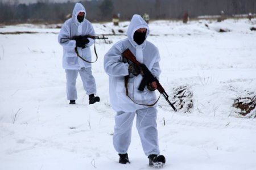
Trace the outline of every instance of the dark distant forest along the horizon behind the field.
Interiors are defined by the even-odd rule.
[[[80,1],[86,9],[86,18],[91,22],[111,21],[114,14],[121,20],[130,20],[133,14],[147,13],[150,19],[180,19],[185,12],[189,18],[201,15],[226,16],[256,13],[255,0],[92,0]],[[75,3],[52,3],[38,0],[37,3],[4,3],[0,0],[0,23],[62,23],[72,14]],[[68,16],[69,15],[69,16]]]

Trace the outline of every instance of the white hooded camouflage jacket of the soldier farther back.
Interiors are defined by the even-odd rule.
[[[79,23],[77,20],[77,15],[79,12],[85,12],[86,11],[84,6],[82,6],[81,3],[76,3],[72,18],[68,19],[64,24],[63,27],[60,30],[59,36],[58,36],[58,42],[60,45],[63,46],[63,68],[64,69],[71,69],[71,70],[78,70],[82,67],[90,67],[91,64],[87,63],[85,61],[82,61],[81,58],[77,57],[77,54],[75,52],[76,47],[76,41],[75,40],[68,40],[67,38],[71,38],[73,36],[79,36],[79,35],[93,35],[95,36],[95,32],[93,29],[92,24],[84,18],[83,22]],[[84,17],[85,17],[84,16]],[[89,43],[86,44],[86,48],[77,48],[79,55],[82,56],[87,61],[91,61],[92,54],[90,52],[89,46],[94,44],[93,39],[89,39]]]

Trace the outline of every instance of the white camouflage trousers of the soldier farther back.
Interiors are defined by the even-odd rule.
[[[76,79],[78,73],[81,76],[82,84],[86,95],[96,94],[96,83],[92,75],[92,67],[81,68],[80,70],[65,70],[67,78],[67,99],[76,100],[77,91],[76,91]]]

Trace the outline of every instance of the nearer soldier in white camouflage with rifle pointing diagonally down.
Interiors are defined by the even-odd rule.
[[[156,105],[147,105],[156,101],[157,84],[156,82],[148,83],[144,91],[139,91],[138,86],[142,80],[139,68],[122,57],[122,53],[130,49],[137,60],[144,63],[148,70],[159,79],[160,56],[158,48],[146,40],[149,33],[148,24],[143,18],[140,15],[134,15],[127,29],[127,39],[114,44],[104,57],[104,69],[109,75],[110,103],[117,112],[113,144],[121,164],[130,163],[127,151],[131,143],[131,129],[135,116],[137,116],[137,130],[144,154],[148,156],[149,165],[165,163],[164,156],[159,155]],[[125,76],[128,78],[127,89],[134,100],[126,95]]]

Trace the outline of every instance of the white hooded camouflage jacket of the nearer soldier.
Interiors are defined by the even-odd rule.
[[[129,63],[124,63],[122,53],[130,49],[137,60],[147,66],[148,70],[159,79],[161,73],[159,67],[160,56],[158,48],[151,42],[145,40],[143,44],[138,45],[133,40],[134,32],[139,28],[147,28],[146,37],[150,33],[147,23],[140,15],[134,15],[127,29],[127,39],[118,41],[105,54],[104,69],[109,75],[109,94],[112,108],[116,111],[134,112],[147,106],[135,104],[126,96],[125,76],[129,75]],[[133,76],[130,74],[128,82],[129,96],[137,103],[152,104],[156,101],[155,91],[149,91],[147,87],[144,91],[139,91],[138,86],[141,83],[142,76]]]

